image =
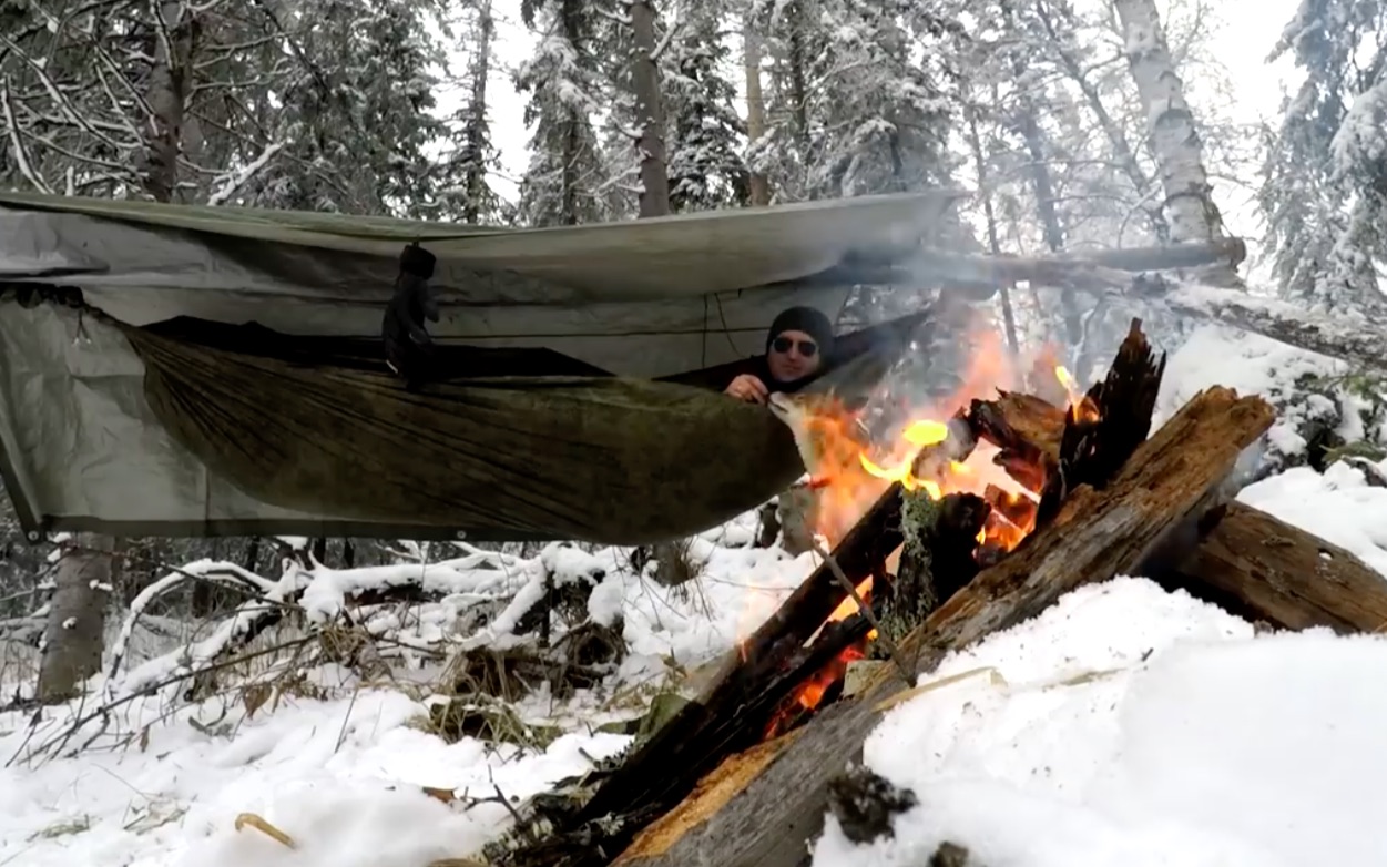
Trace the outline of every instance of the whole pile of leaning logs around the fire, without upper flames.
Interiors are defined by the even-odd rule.
[[[1032,498],[893,481],[703,695],[566,796],[527,805],[488,861],[796,867],[825,809],[875,809],[843,795],[843,774],[886,705],[1083,583],[1150,574],[1290,628],[1387,621],[1387,583],[1352,555],[1227,502],[1272,408],[1215,387],[1153,436],[1164,368],[1133,320],[1107,377],[1068,406],[999,394],[961,408],[950,430],[965,433],[922,449],[913,477],[985,440]],[[834,619],[850,598],[865,608]],[[841,698],[847,662],[868,655],[889,664]]]

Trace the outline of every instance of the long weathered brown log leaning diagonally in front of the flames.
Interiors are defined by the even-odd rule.
[[[1261,398],[1227,388],[1196,395],[1105,490],[1074,491],[1051,526],[954,594],[900,649],[927,674],[949,651],[1033,617],[1080,584],[1139,573],[1166,535],[1225,495],[1221,481],[1273,415]],[[899,680],[879,671],[860,701],[839,702],[803,728],[732,756],[648,825],[614,864],[796,867],[822,827],[829,780],[860,760],[882,702],[902,691]]]

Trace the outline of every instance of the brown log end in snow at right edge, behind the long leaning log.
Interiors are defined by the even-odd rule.
[[[1352,552],[1240,502],[1207,515],[1204,533],[1175,572],[1153,576],[1162,587],[1279,628],[1387,628],[1387,576]]]

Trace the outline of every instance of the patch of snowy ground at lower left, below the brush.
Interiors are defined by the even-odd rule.
[[[501,803],[463,812],[423,787],[523,799],[588,770],[584,753],[601,760],[628,744],[569,734],[520,755],[473,739],[444,744],[411,726],[426,707],[398,692],[284,702],[251,720],[232,709],[214,734],[178,720],[153,726],[143,749],[0,770],[0,863],[423,867],[479,849],[509,816]],[[153,703],[141,712],[155,721]],[[0,716],[0,731],[18,728],[0,735],[4,759],[25,737],[22,720]],[[288,834],[297,850],[236,831],[244,812]]]

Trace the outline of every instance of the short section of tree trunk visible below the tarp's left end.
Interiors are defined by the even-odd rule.
[[[39,663],[37,698],[44,703],[74,698],[82,683],[101,670],[111,538],[78,533],[57,572]]]

